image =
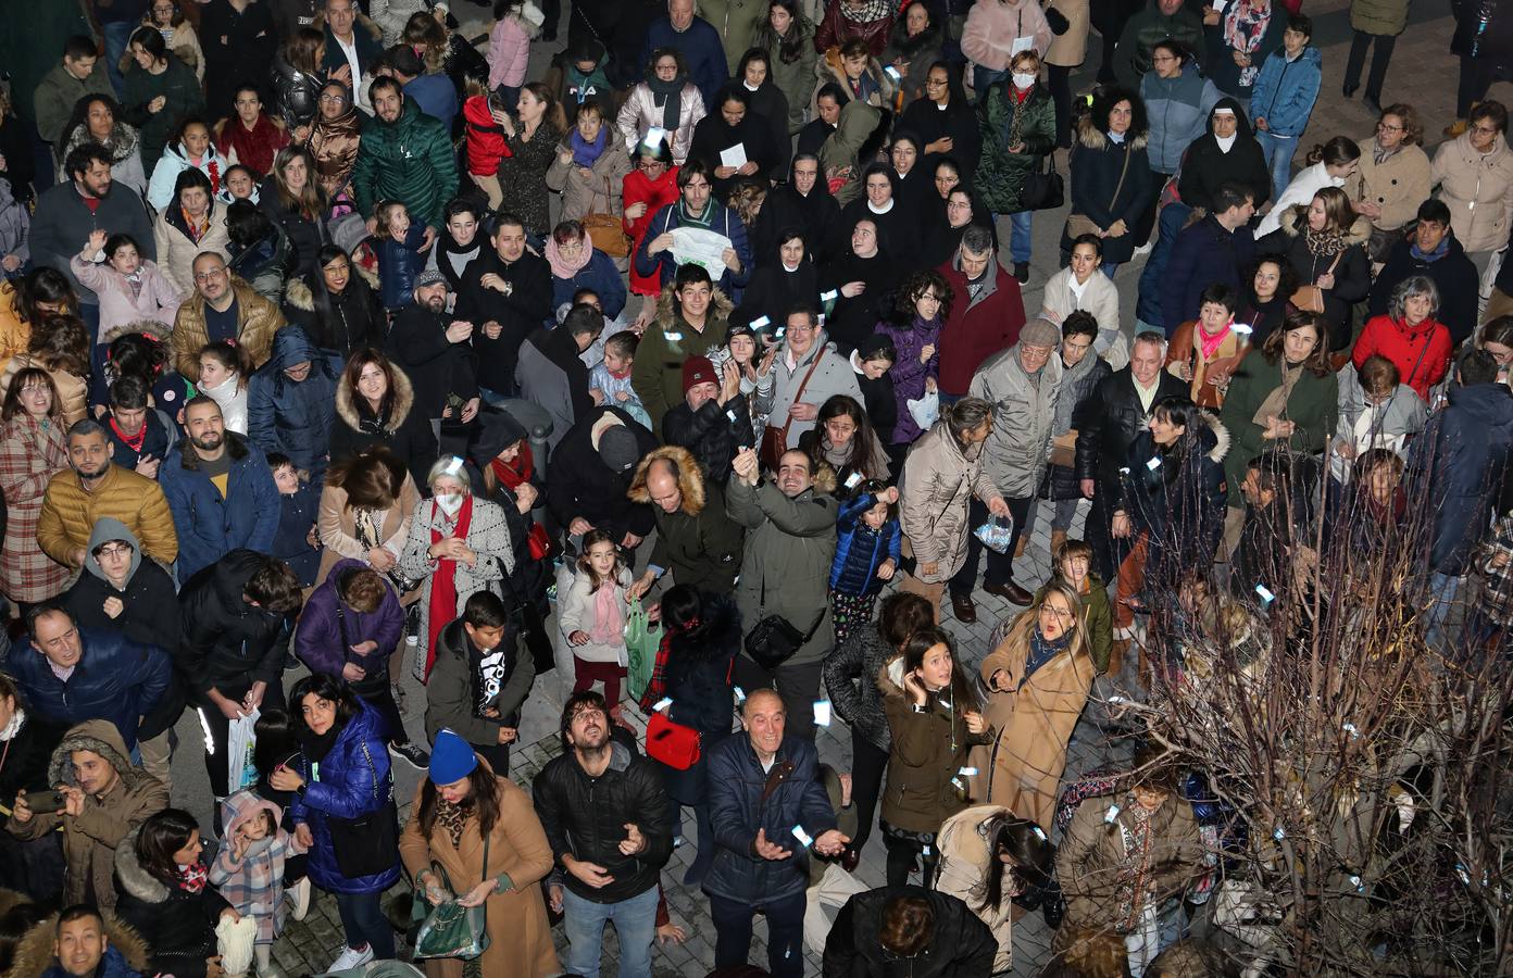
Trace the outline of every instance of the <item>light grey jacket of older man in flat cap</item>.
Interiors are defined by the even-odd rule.
[[[1006,499],[1029,499],[1050,460],[1061,357],[1050,355],[1038,379],[1020,366],[1020,345],[996,354],[977,369],[967,395],[993,405],[993,434],[982,446],[982,467]]]

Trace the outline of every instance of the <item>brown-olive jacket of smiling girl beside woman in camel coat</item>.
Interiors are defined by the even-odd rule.
[[[968,733],[958,704],[929,695],[917,712],[903,691],[903,658],[878,673],[882,709],[888,715],[888,788],[882,794],[882,821],[905,831],[934,833],[941,822],[967,807],[956,794],[958,772],[967,753],[991,744],[993,732]]]

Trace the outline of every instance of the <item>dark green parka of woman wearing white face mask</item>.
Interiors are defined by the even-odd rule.
[[[993,213],[1023,210],[1020,193],[1024,178],[1044,166],[1045,154],[1056,148],[1056,104],[1039,83],[1020,101],[1005,79],[988,89],[977,106],[982,156],[977,159],[977,195]],[[1024,144],[1021,153],[1009,147]]]

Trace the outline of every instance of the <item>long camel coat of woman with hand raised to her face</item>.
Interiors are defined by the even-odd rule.
[[[1006,806],[1050,831],[1061,774],[1067,768],[1067,742],[1082,716],[1097,668],[1082,635],[1076,633],[1067,651],[1021,680],[1033,627],[1035,611],[1023,612],[982,661],[983,682],[1005,670],[1012,692],[994,692],[988,698],[983,718],[996,739],[976,748],[968,763],[979,771],[973,778],[973,798]],[[976,783],[982,777],[988,778],[985,786]]]

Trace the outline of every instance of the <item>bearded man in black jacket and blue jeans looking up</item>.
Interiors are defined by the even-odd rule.
[[[610,736],[598,692],[563,704],[561,739],[531,785],[552,857],[566,869],[551,889],[567,931],[567,970],[599,973],[605,921],[620,939],[620,973],[649,975],[657,931],[657,878],[672,854],[673,827],[661,774],[629,735]]]

